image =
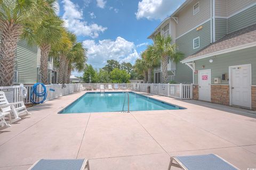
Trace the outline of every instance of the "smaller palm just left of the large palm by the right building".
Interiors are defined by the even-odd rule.
[[[149,45],[143,56],[146,62],[146,67],[148,69],[148,83],[152,83],[152,70],[155,67],[158,67],[160,64],[157,58],[153,58],[153,47],[153,45]]]

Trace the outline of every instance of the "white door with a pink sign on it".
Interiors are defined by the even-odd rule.
[[[198,71],[199,100],[211,101],[211,70]]]

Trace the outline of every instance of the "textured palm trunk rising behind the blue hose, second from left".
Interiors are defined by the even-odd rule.
[[[41,50],[41,64],[40,64],[40,72],[41,72],[41,80],[43,84],[49,84],[48,81],[48,58],[49,52],[51,50],[51,45],[43,44],[40,46]]]

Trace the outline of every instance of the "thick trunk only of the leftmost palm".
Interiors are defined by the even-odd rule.
[[[21,35],[21,26],[13,21],[0,20],[0,86],[12,86],[14,76],[15,51]]]

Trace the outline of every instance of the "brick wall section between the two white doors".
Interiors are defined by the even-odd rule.
[[[211,102],[229,106],[229,85],[211,85]]]

